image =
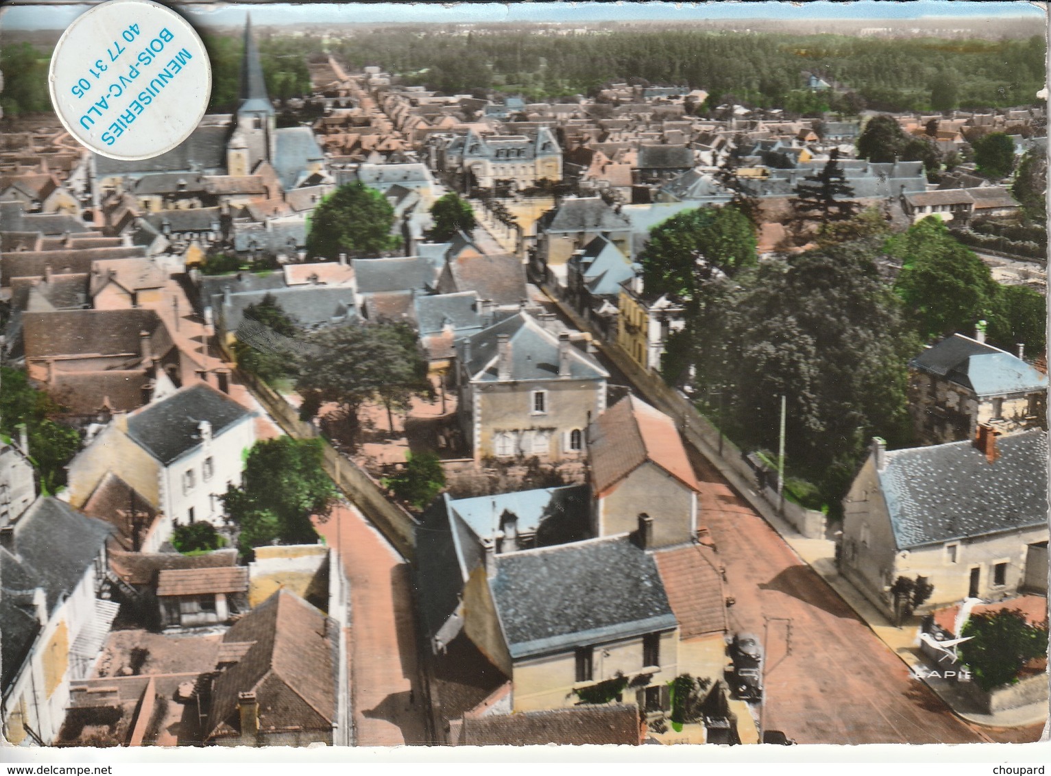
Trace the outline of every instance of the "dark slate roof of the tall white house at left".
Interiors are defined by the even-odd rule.
[[[198,424],[211,424],[212,438],[252,413],[214,388],[197,383],[128,415],[128,436],[168,465],[201,445]]]

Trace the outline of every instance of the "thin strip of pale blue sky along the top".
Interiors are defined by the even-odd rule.
[[[90,5],[16,0],[0,12],[0,27],[8,29],[62,29]],[[236,25],[250,9],[255,24],[341,22],[589,22],[610,20],[675,19],[915,19],[922,17],[1032,16],[1045,17],[1043,4],[918,0],[890,2],[511,2],[511,3],[219,3],[167,2],[179,7],[194,24]]]

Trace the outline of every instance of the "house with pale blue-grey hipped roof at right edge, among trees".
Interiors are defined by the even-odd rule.
[[[1048,376],[1018,355],[953,334],[909,362],[909,409],[924,444],[974,438],[992,424],[1009,433],[1047,423]]]

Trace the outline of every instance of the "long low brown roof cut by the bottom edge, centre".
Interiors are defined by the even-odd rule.
[[[556,743],[641,743],[639,710],[635,706],[583,706],[575,709],[465,717],[461,747],[529,747]]]

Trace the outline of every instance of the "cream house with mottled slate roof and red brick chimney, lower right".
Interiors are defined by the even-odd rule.
[[[892,611],[900,576],[934,586],[927,606],[1047,594],[1047,432],[887,450],[873,440],[843,501],[840,572]]]

